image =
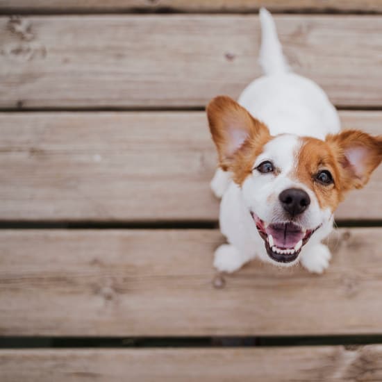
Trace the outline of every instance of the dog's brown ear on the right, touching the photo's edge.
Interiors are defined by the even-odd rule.
[[[363,188],[381,163],[382,136],[373,137],[362,131],[345,130],[328,135],[326,142],[331,145],[340,165],[342,190]]]

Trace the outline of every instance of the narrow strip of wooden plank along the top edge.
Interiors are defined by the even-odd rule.
[[[379,0],[0,0],[0,10],[105,11],[105,10],[174,10],[182,12],[254,11],[260,6],[269,10],[381,12]]]

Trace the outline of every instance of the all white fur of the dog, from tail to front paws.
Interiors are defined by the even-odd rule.
[[[317,84],[289,72],[272,16],[266,10],[260,11],[260,21],[263,29],[260,63],[267,76],[250,83],[240,95],[239,103],[264,122],[272,135],[283,134],[266,144],[254,163],[257,167],[263,160],[272,160],[278,175],[259,174],[254,170],[240,188],[229,174],[217,170],[211,187],[217,197],[223,195],[219,222],[229,244],[217,249],[214,265],[219,271],[233,272],[255,256],[279,266],[294,265],[301,259],[310,272],[321,273],[331,257],[321,241],[332,229],[333,216],[329,209],[321,210],[314,192],[291,174],[297,166],[299,136],[324,139],[328,133],[340,131],[340,119]],[[308,210],[301,214],[299,224],[306,229],[322,226],[293,263],[277,263],[267,255],[249,211],[268,224],[280,221],[283,210],[278,196],[286,188],[295,187],[304,189],[311,201]]]

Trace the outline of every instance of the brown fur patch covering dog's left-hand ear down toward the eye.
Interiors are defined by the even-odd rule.
[[[206,111],[219,165],[233,172],[233,180],[241,184],[251,172],[251,166],[263,145],[270,140],[269,130],[226,96],[214,98],[208,103]]]

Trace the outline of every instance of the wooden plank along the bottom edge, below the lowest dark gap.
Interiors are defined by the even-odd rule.
[[[381,381],[382,346],[0,350],[1,381]]]

